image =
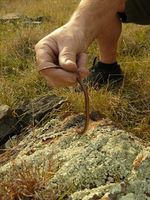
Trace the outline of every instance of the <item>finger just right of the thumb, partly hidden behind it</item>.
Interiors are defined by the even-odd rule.
[[[77,65],[78,65],[78,71],[79,71],[81,79],[84,79],[90,73],[89,70],[86,68],[86,64],[87,64],[87,54],[80,53],[78,55]]]

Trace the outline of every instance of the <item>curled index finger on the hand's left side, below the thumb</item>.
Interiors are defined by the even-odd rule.
[[[38,70],[45,77],[48,84],[56,87],[74,85],[76,75],[67,71],[56,69],[58,63],[58,49],[52,38],[41,40],[35,47]],[[56,63],[56,64],[55,64]]]

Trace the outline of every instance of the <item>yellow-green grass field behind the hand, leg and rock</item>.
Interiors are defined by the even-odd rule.
[[[64,3],[65,2],[65,3]],[[64,24],[79,1],[76,0],[0,0],[0,15],[16,12],[35,19],[40,25],[25,24],[23,18],[0,24],[0,104],[15,108],[22,100],[55,92],[70,101],[72,112],[84,111],[82,94],[73,88],[49,91],[36,71],[34,45]],[[150,141],[150,28],[124,25],[118,48],[118,61],[125,73],[120,88],[100,91],[89,88],[91,110],[99,110],[119,127]],[[89,48],[89,63],[98,54],[95,43]],[[66,109],[66,108],[65,108]]]

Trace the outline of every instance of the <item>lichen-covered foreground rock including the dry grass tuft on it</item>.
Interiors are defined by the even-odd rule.
[[[0,196],[11,200],[148,200],[150,148],[103,119],[80,135],[51,119],[0,156]],[[68,128],[67,128],[68,127]]]

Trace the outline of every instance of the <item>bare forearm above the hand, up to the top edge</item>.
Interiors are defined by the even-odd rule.
[[[98,36],[108,15],[116,15],[124,0],[82,0],[69,24],[83,31],[87,46]]]

